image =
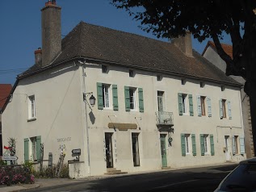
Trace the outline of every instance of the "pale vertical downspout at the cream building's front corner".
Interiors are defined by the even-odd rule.
[[[79,61],[81,67],[82,67],[82,89],[83,89],[83,93],[86,94],[86,73],[85,73],[85,65],[86,65],[86,61]],[[87,116],[87,102],[86,99],[83,101],[85,103],[85,119],[86,119],[86,145],[87,145],[87,158],[88,158],[88,176],[90,176],[90,142],[89,142],[89,131],[88,131],[88,116]]]

